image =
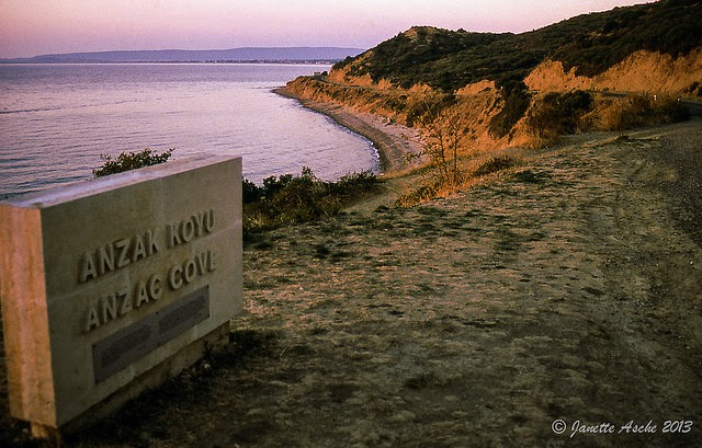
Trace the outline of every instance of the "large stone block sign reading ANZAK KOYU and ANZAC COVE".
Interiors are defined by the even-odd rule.
[[[241,307],[241,159],[172,161],[0,203],[11,414],[78,417]]]

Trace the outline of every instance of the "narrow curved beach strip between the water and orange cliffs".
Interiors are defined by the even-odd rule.
[[[383,175],[407,173],[423,164],[423,148],[417,129],[396,123],[388,123],[383,117],[359,113],[342,105],[301,99],[281,87],[272,90],[281,96],[299,102],[303,107],[326,115],[335,123],[366,138],[377,151]]]

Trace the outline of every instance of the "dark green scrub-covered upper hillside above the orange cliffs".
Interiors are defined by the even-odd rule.
[[[702,46],[702,1],[663,0],[580,15],[522,34],[469,33],[416,26],[335,66],[410,88],[445,92],[480,80],[521,81],[546,59],[592,77],[637,50],[673,58]]]

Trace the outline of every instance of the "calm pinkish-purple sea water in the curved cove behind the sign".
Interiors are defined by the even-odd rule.
[[[91,179],[101,154],[240,154],[244,175],[377,171],[364,138],[271,92],[328,67],[0,65],[0,198]]]

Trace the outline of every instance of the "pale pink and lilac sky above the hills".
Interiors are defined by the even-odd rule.
[[[0,58],[115,49],[367,49],[414,25],[531,31],[642,0],[0,0]]]

